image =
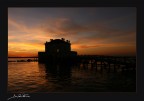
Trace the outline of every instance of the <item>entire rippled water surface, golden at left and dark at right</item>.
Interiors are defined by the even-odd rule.
[[[9,59],[9,60],[12,60]],[[13,59],[15,60],[15,59]],[[8,62],[8,92],[135,92],[135,71]]]

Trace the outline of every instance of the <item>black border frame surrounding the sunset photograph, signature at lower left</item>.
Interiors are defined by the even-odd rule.
[[[30,98],[11,99],[9,101],[74,101],[74,100],[144,100],[144,49],[143,49],[143,4],[140,0],[99,0],[99,1],[43,1],[27,0],[0,3],[0,101],[7,101],[13,93],[7,93],[7,57],[8,57],[8,7],[136,7],[137,8],[137,92],[136,93],[29,93]]]

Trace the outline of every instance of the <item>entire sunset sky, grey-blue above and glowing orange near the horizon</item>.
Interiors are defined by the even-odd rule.
[[[8,8],[8,56],[37,56],[50,39],[88,55],[136,55],[135,7]]]

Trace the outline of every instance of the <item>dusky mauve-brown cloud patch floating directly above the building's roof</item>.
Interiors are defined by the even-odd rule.
[[[67,18],[49,19],[41,24],[41,29],[54,36],[70,35],[87,30],[86,26],[77,24]]]

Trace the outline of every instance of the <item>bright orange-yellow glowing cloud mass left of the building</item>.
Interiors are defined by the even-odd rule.
[[[44,42],[51,37],[46,37],[37,27],[28,28],[23,23],[9,18],[8,54],[9,56],[37,55],[38,51],[44,51]],[[15,29],[11,29],[14,27]]]

